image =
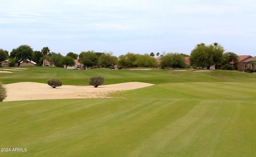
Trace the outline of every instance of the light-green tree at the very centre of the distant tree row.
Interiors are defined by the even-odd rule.
[[[118,57],[118,65],[121,67],[133,67],[134,61],[137,60],[137,56],[134,53],[126,53],[126,55],[120,55]]]

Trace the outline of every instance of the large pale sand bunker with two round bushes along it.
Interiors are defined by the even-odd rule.
[[[70,99],[70,98],[107,98],[110,92],[144,88],[154,84],[143,82],[126,82],[119,84],[94,86],[63,85],[52,88],[48,84],[36,82],[18,82],[4,84],[7,97],[4,102],[18,100]]]

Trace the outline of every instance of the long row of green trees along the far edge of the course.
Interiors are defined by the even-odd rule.
[[[159,64],[162,68],[188,68],[184,57],[190,57],[190,66],[193,67],[206,67],[214,65],[216,69],[229,66],[233,63],[234,67],[238,64],[238,55],[233,52],[225,52],[224,47],[218,43],[206,45],[204,43],[197,44],[191,51],[190,55],[183,53],[156,53],[160,55],[160,63],[155,59],[155,54],[135,54],[128,52],[125,55],[118,57],[114,56],[112,52],[96,52],[96,51],[82,51],[80,54],[69,52],[66,56],[60,53],[51,52],[48,47],[43,47],[41,51],[33,51],[28,45],[20,45],[16,49],[12,49],[10,55],[8,51],[0,49],[0,61],[9,59],[9,66],[14,67],[16,63],[18,66],[21,61],[27,59],[32,60],[41,66],[46,61],[50,65],[56,67],[74,66],[74,59],[78,59],[84,67],[158,67]],[[44,65],[46,66],[46,65]],[[64,67],[64,68],[66,68]]]

